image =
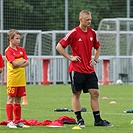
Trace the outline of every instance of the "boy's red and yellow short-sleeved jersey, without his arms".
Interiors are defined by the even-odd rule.
[[[25,68],[12,67],[12,61],[14,60],[28,60],[25,49],[23,47],[17,46],[17,50],[15,50],[8,46],[5,50],[5,57],[7,61],[7,87],[26,86]]]

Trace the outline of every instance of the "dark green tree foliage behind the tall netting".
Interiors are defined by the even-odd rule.
[[[126,17],[126,0],[68,0],[68,29],[83,9],[92,12],[94,29],[102,18]],[[64,30],[65,0],[4,0],[4,29]]]

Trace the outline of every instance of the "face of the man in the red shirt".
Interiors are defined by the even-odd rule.
[[[89,27],[91,25],[91,15],[83,15],[81,18],[81,24],[85,27]]]

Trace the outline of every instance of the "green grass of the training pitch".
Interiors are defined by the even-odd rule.
[[[86,128],[82,130],[72,130],[74,125],[65,125],[62,128],[48,128],[46,126],[32,126],[29,129],[9,129],[6,126],[0,126],[1,133],[132,133],[133,125],[130,124],[133,119],[132,113],[124,114],[123,111],[133,109],[132,85],[107,85],[100,86],[100,110],[101,117],[114,124],[114,127],[95,127],[93,126],[93,115],[90,108],[89,94],[81,95],[82,107],[87,108],[83,112]],[[67,115],[75,118],[73,112],[54,112],[55,108],[71,107],[71,89],[70,85],[50,85],[50,86],[27,86],[28,105],[22,105],[23,119],[36,119],[40,122],[44,120],[55,120],[60,116]],[[107,96],[107,100],[102,100]],[[0,87],[0,121],[6,120],[6,87]],[[109,104],[110,101],[116,101],[116,104]]]

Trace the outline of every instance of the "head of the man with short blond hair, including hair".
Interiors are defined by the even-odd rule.
[[[82,10],[79,13],[79,21],[82,26],[84,26],[84,27],[90,26],[91,20],[92,20],[91,12],[89,12],[87,10]]]

